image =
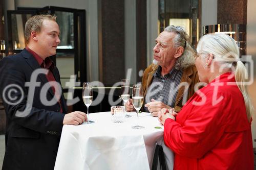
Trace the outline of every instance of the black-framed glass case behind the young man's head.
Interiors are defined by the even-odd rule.
[[[24,8],[7,11],[8,40],[6,54],[19,53],[26,47],[24,28],[25,23],[33,15],[56,15],[60,29],[60,44],[57,54],[51,56],[59,68],[62,87],[68,91],[65,83],[71,75],[76,75],[79,82],[86,82],[86,11],[71,8],[48,6],[44,8]]]

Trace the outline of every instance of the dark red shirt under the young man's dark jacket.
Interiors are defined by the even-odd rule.
[[[40,65],[41,68],[45,68],[48,69],[48,74],[46,75],[46,78],[48,80],[48,82],[50,82],[51,88],[53,93],[56,95],[56,98],[59,99],[58,100],[58,104],[60,106],[60,110],[59,112],[62,113],[63,109],[62,109],[62,105],[61,105],[61,101],[60,101],[60,96],[61,96],[61,92],[58,88],[54,88],[57,87],[56,86],[56,79],[53,76],[52,70],[54,68],[54,63],[52,62],[52,60],[50,58],[46,58],[45,60],[43,60],[40,56],[38,56],[38,54],[36,54],[33,50],[31,50],[29,47],[26,47],[26,50],[33,55],[33,57],[36,59],[36,61],[38,62],[38,64]]]

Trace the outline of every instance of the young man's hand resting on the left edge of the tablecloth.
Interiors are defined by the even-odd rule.
[[[84,112],[74,111],[65,114],[63,119],[63,125],[79,125],[87,121],[87,115]]]

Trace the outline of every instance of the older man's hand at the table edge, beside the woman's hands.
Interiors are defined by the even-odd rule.
[[[163,108],[170,109],[168,105],[165,105],[163,102],[159,102],[154,99],[151,99],[151,102],[145,104],[145,107],[147,107],[148,111],[150,111],[153,116],[157,116],[158,112]]]

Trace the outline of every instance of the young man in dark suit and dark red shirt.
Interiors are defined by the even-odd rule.
[[[0,61],[0,93],[7,115],[3,169],[53,169],[63,125],[87,121],[67,112],[57,67],[56,17],[36,15],[25,26],[26,48]],[[70,146],[72,147],[72,146]]]

